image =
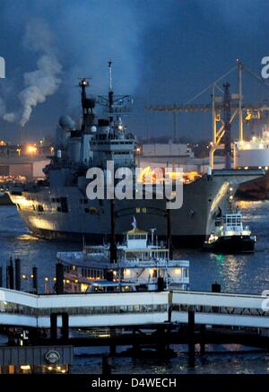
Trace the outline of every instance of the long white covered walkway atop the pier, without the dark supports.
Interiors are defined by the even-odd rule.
[[[65,313],[69,327],[185,324],[189,310],[200,325],[269,328],[266,296],[216,292],[117,292],[35,295],[0,290],[0,325],[49,328]],[[62,327],[59,318],[58,327]]]

